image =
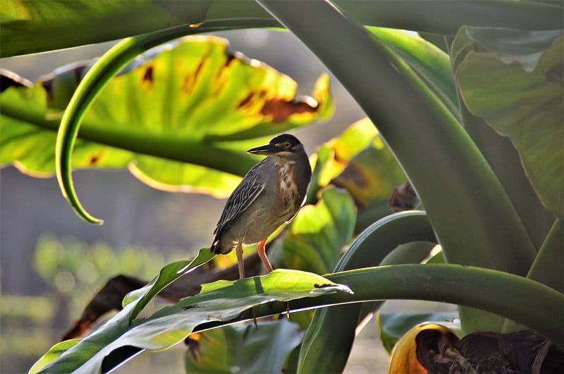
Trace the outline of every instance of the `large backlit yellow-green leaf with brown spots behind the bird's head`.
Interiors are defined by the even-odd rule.
[[[83,71],[73,66],[33,88],[1,93],[0,164],[15,163],[33,175],[54,173],[57,119]],[[99,92],[85,114],[73,167],[129,167],[157,188],[226,196],[240,181],[233,174],[256,162],[245,155],[246,147],[264,141],[233,140],[331,115],[327,76],[313,98],[295,99],[295,90],[296,83],[274,68],[230,54],[221,38],[188,37],[159,47]],[[229,155],[231,162],[223,170],[202,165],[193,152],[206,149]]]

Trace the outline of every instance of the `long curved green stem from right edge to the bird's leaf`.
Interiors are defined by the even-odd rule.
[[[290,309],[392,299],[440,301],[503,315],[564,347],[564,294],[532,279],[498,270],[452,264],[370,267],[339,272],[326,278],[346,284],[355,294],[331,294],[290,301]],[[255,312],[257,317],[262,317],[283,313],[284,308],[286,306],[282,305],[274,309],[258,306]],[[245,315],[242,319],[250,318],[251,315]]]

